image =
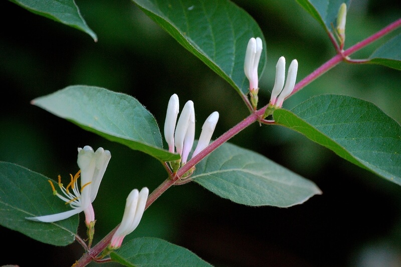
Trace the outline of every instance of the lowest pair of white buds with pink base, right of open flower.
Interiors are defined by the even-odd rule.
[[[124,214],[122,216],[121,224],[111,237],[110,247],[112,249],[119,248],[124,237],[135,230],[139,225],[143,212],[145,211],[149,189],[144,187],[138,192],[134,189],[129,193],[125,203]]]

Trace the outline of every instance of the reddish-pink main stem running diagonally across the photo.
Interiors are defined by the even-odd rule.
[[[372,42],[376,41],[377,39],[381,38],[382,36],[388,34],[389,32],[393,31],[397,27],[401,26],[401,19],[391,23],[390,25],[386,26],[382,30],[378,31],[377,33],[373,34],[372,36],[366,38],[365,40],[357,43],[356,45],[350,47],[349,49],[345,50],[343,55],[349,56],[352,53],[360,50],[361,48],[371,44]],[[343,55],[336,55],[330,60],[328,60],[326,63],[324,63],[322,66],[317,68],[315,71],[313,71],[310,75],[306,76],[304,79],[302,79],[300,82],[298,82],[292,93],[289,95],[293,95],[297,91],[301,90],[303,87],[305,87],[307,84],[310,82],[314,81],[317,79],[320,75],[331,69],[332,67],[336,66],[338,63],[343,61]],[[288,97],[289,97],[288,96]],[[272,107],[269,107],[269,105],[266,105],[259,110],[255,110],[252,112],[248,117],[246,117],[244,120],[240,121],[237,125],[229,129],[227,132],[225,132],[222,136],[220,136],[218,139],[216,139],[214,142],[212,142],[209,146],[207,146],[204,150],[200,151],[197,155],[192,157],[185,165],[181,166],[176,172],[175,175],[171,175],[171,179],[166,179],[164,180],[163,183],[161,183],[147,198],[146,201],[146,206],[145,210],[147,207],[149,207],[161,194],[163,194],[170,186],[174,185],[178,180],[179,177],[183,176],[185,173],[190,171],[197,163],[199,163],[202,159],[204,159],[206,156],[208,156],[210,153],[212,153],[214,150],[216,150],[218,147],[223,145],[225,142],[230,140],[232,137],[237,135],[240,131],[251,125],[252,123],[256,121],[262,121],[264,123],[274,123],[272,121],[265,121],[261,120],[263,116],[267,113],[270,113],[270,111],[266,111],[266,109],[272,109]],[[274,108],[273,108],[274,112]],[[273,113],[271,112],[271,113]],[[75,262],[74,266],[75,267],[82,267],[86,266],[89,264],[92,260],[99,261],[96,257],[110,244],[111,238],[116,232],[117,228],[119,225],[117,225],[110,233],[108,233],[99,243],[97,243],[94,247],[88,248],[88,251],[77,261]],[[82,239],[76,236],[76,240],[78,240],[82,244]],[[85,245],[83,244],[85,247]],[[107,260],[107,259],[105,259]]]

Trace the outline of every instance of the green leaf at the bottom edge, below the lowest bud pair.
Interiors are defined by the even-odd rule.
[[[132,239],[110,256],[125,266],[211,266],[188,249],[153,237]]]

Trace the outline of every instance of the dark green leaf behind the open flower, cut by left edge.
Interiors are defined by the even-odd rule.
[[[72,209],[53,195],[48,180],[24,167],[0,162],[0,224],[38,241],[65,246],[74,242],[78,215],[54,223],[26,219]]]

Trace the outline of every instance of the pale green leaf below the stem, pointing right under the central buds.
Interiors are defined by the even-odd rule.
[[[229,143],[200,161],[191,179],[223,198],[250,206],[290,207],[321,194],[313,182]]]

